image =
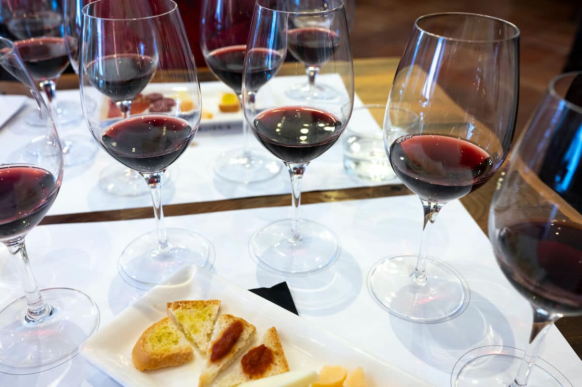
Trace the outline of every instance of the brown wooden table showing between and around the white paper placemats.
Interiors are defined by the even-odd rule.
[[[356,76],[356,93],[364,103],[385,104],[388,99],[390,86],[398,66],[399,58],[373,58],[354,60]],[[214,77],[207,69],[199,69],[200,81],[211,81]],[[77,88],[79,82],[74,74],[66,74],[58,83],[59,88]],[[520,109],[532,110],[541,98],[543,90],[528,88],[522,85],[522,93],[537,94],[538,98],[528,98],[527,102],[520,102]],[[0,82],[0,92],[14,94],[22,88],[9,82]],[[526,106],[524,106],[524,103]],[[523,128],[516,128],[521,132]],[[487,234],[489,204],[495,189],[497,178],[494,177],[477,191],[461,199],[465,208],[475,219],[481,230]],[[381,187],[364,187],[350,189],[335,189],[332,191],[306,192],[301,195],[301,202],[322,203],[336,202],[340,200],[381,198],[384,196],[409,195],[411,191],[404,185],[385,185]],[[218,200],[214,202],[197,202],[164,206],[166,216],[198,214],[228,210],[250,209],[257,207],[274,207],[290,205],[290,195],[258,196],[254,198],[241,198],[230,200]],[[420,206],[420,205],[419,205]],[[111,210],[92,213],[66,214],[45,217],[41,224],[93,222],[109,220],[127,220],[152,217],[151,207],[136,209]],[[558,321],[558,328],[565,336],[576,354],[582,358],[582,317],[562,318]]]

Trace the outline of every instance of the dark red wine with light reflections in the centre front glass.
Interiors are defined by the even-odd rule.
[[[307,163],[328,150],[343,131],[331,113],[311,107],[268,109],[254,119],[255,137],[287,163]]]

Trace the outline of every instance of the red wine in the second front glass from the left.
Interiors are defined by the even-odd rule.
[[[142,173],[165,170],[190,144],[196,129],[178,117],[149,114],[112,124],[102,135],[105,150]]]

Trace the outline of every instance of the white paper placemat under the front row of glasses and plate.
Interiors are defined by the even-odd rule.
[[[441,324],[413,324],[386,313],[366,286],[371,266],[384,256],[416,253],[422,210],[416,196],[303,206],[306,218],[339,236],[342,254],[328,270],[309,277],[285,278],[258,268],[249,256],[250,235],[289,207],[171,217],[168,226],[202,232],[216,248],[212,270],[244,288],[286,280],[300,316],[391,361],[437,386],[450,386],[450,372],[467,351],[485,345],[524,348],[531,308],[499,270],[487,237],[458,202],[446,205],[437,220],[431,255],[453,265],[467,279],[471,302],[463,314]],[[139,298],[116,263],[126,243],[150,231],[150,219],[40,226],[27,238],[38,284],[69,286],[90,295],[101,310],[101,324]],[[0,257],[0,308],[22,295],[8,252]],[[541,357],[582,385],[582,361],[553,327]],[[353,364],[351,366],[357,366]],[[0,386],[109,387],[116,383],[80,356],[53,370],[25,377],[0,374]]]

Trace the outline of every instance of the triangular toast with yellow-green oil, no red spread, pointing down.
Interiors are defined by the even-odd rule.
[[[219,308],[220,300],[174,301],[168,302],[168,316],[187,339],[206,352]]]

